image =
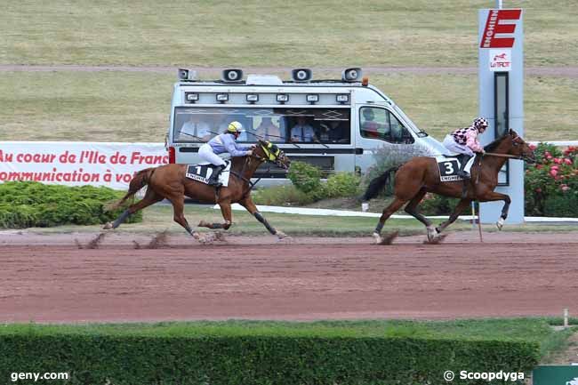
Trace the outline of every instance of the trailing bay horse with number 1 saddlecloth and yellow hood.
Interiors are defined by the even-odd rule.
[[[126,218],[153,205],[163,199],[167,199],[173,205],[173,219],[179,223],[189,234],[198,241],[205,243],[207,238],[201,233],[191,229],[189,222],[183,213],[185,197],[190,197],[202,203],[217,204],[221,206],[223,223],[208,223],[201,221],[198,226],[209,229],[229,229],[232,224],[231,204],[238,203],[253,214],[260,221],[269,233],[277,235],[279,239],[287,237],[285,233],[272,227],[257,210],[257,206],[251,198],[253,183],[251,178],[253,173],[263,162],[277,164],[287,170],[291,161],[285,153],[276,145],[266,140],[259,140],[253,149],[253,155],[235,156],[231,158],[231,171],[229,174],[229,184],[227,187],[214,188],[197,180],[190,180],[185,176],[188,164],[163,164],[158,167],[150,167],[140,170],[133,177],[129,184],[128,192],[116,204],[109,209],[117,208],[133,197],[140,188],[147,187],[145,196],[137,203],[130,205],[124,213],[114,222],[109,222],[104,229],[116,229]]]

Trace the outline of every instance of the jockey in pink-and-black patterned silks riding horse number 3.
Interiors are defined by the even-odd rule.
[[[479,144],[478,134],[485,132],[487,128],[487,120],[484,117],[478,117],[470,127],[460,128],[454,132],[446,135],[444,139],[444,146],[452,151],[462,154],[460,160],[460,170],[457,172],[458,176],[469,179],[470,174],[464,171],[464,168],[470,157],[475,156],[476,152],[484,154],[484,148]]]

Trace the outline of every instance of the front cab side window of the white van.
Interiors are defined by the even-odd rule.
[[[362,107],[359,112],[359,130],[363,138],[413,143],[413,136],[387,109]]]

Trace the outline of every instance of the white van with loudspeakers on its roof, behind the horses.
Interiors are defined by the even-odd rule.
[[[383,92],[348,68],[339,80],[314,80],[307,68],[292,80],[226,69],[221,80],[199,81],[179,70],[174,84],[167,149],[171,163],[194,164],[198,148],[237,120],[242,144],[270,140],[293,161],[315,164],[326,173],[365,172],[374,150],[419,144],[434,153],[441,143],[420,130]],[[285,170],[263,164],[255,177],[285,179]]]

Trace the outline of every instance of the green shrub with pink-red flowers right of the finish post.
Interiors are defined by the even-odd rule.
[[[578,217],[578,148],[540,143],[526,164],[526,215]]]

